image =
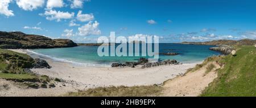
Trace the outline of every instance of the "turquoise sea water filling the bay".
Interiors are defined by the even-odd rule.
[[[175,59],[180,63],[195,63],[220,53],[209,50],[212,45],[189,44],[159,44],[159,53],[177,52],[176,56],[159,55],[159,60]],[[140,57],[100,57],[97,55],[97,46],[79,46],[71,48],[31,49],[30,51],[42,56],[51,57],[56,61],[71,62],[84,66],[110,66],[112,63],[137,61]],[[154,50],[154,49],[153,49]],[[147,56],[146,56],[147,57]],[[148,58],[148,57],[147,57]]]

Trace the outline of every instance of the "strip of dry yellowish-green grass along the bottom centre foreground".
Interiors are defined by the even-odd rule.
[[[80,96],[80,97],[144,97],[160,95],[163,88],[160,86],[110,86],[88,89],[85,91],[71,92],[65,96]]]

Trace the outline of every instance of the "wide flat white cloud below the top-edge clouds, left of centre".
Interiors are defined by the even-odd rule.
[[[47,20],[57,20],[57,22],[60,22],[61,19],[71,19],[71,18],[73,18],[75,13],[49,10],[49,11],[45,11],[44,14],[39,14],[39,15],[46,16]]]

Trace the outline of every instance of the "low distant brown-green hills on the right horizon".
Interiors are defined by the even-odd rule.
[[[204,42],[188,42],[184,41],[183,44],[200,44],[200,45],[254,45],[256,40],[242,39],[242,40],[213,40]]]

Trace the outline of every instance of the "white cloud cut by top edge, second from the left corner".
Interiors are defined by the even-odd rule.
[[[34,10],[43,7],[44,0],[16,0],[16,4],[23,10]]]

